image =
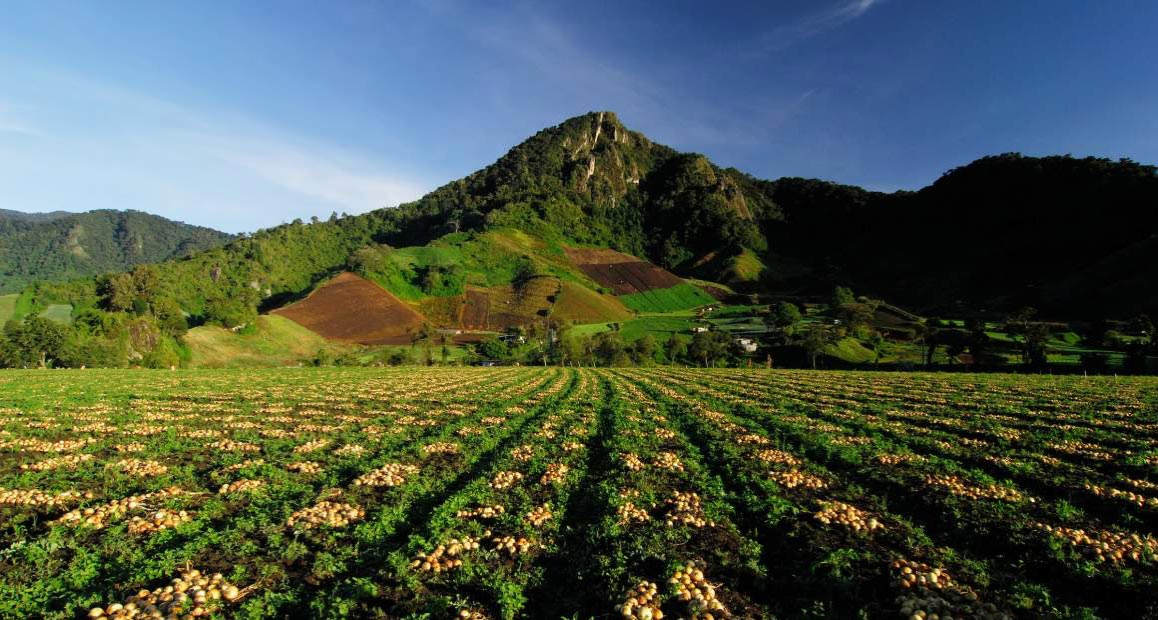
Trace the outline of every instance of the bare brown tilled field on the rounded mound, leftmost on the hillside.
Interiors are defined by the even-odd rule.
[[[423,316],[389,291],[356,273],[339,273],[306,299],[273,311],[329,340],[406,344]]]

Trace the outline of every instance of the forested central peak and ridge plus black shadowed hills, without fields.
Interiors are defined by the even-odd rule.
[[[1153,167],[1094,158],[984,158],[915,192],[761,181],[652,143],[611,112],[592,112],[413,203],[258,231],[166,263],[161,276],[186,312],[203,315],[215,297],[277,307],[375,245],[404,250],[398,258],[453,255],[472,242],[476,251],[544,261],[574,246],[624,251],[742,291],[845,284],[921,311],[960,301],[1124,316],[1158,297],[1152,284],[1116,269],[1152,256],[1153,204]],[[494,231],[515,231],[533,247],[488,239]],[[417,249],[428,245],[441,249]],[[510,283],[508,258],[472,277]],[[379,283],[402,299],[426,297]],[[1121,312],[1093,307],[1099,296]]]

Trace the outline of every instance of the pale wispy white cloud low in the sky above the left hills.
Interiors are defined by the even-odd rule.
[[[241,232],[393,206],[428,189],[380,154],[229,110],[47,71],[37,80],[51,83],[47,92],[69,93],[69,104],[28,95],[22,115],[0,104],[0,147],[6,133],[56,137],[0,148],[7,206],[131,207]]]

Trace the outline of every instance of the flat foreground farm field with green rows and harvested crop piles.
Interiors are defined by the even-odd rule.
[[[85,370],[0,395],[0,618],[1158,617],[1152,378]]]

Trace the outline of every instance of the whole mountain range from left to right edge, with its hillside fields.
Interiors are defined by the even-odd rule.
[[[0,216],[0,273],[10,289],[32,275],[113,272],[31,286],[20,315],[71,306],[76,342],[116,340],[109,359],[122,360],[149,359],[170,342],[159,365],[175,363],[186,323],[254,324],[342,272],[367,282],[343,276],[352,289],[327,294],[378,296],[382,307],[405,305],[453,328],[547,316],[610,323],[704,302],[655,265],[770,297],[844,285],[925,313],[1001,316],[1029,305],[1129,318],[1158,309],[1156,205],[1156,169],[1127,160],[1005,154],[918,191],[881,194],[758,180],[592,112],[413,203],[226,245],[221,233],[144,213]],[[206,246],[218,247],[192,251]],[[157,264],[115,273],[141,262]],[[636,277],[637,289],[615,290]],[[324,311],[320,299],[309,312]],[[86,359],[69,363],[108,363]]]

